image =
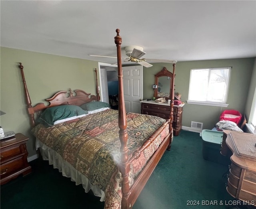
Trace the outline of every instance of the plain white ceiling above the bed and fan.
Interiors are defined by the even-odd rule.
[[[115,63],[122,47],[177,61],[256,57],[256,1],[3,1],[0,44]],[[126,57],[122,51],[122,57]]]

